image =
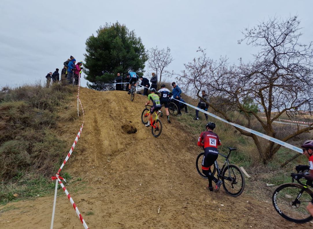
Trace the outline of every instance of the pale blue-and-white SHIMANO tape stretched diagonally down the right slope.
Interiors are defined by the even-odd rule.
[[[232,122],[228,122],[227,120],[222,119],[222,118],[218,117],[218,116],[215,115],[215,114],[211,114],[211,113],[208,112],[208,111],[205,111],[205,110],[200,109],[200,108],[198,108],[198,107],[195,107],[195,106],[192,106],[192,105],[190,105],[190,104],[184,103],[184,102],[179,101],[179,100],[177,100],[177,99],[175,99],[175,100],[178,101],[178,102],[180,102],[180,103],[186,104],[187,106],[190,106],[190,107],[192,107],[192,108],[194,108],[194,109],[196,109],[196,110],[198,110],[198,111],[201,111],[201,112],[203,112],[203,113],[205,113],[205,114],[208,114],[208,115],[212,116],[213,118],[216,118],[216,119],[218,119],[218,120],[221,120],[221,121],[223,121],[223,122],[226,122],[226,123],[228,123],[228,124],[230,124],[230,125],[236,126],[236,127],[238,127],[239,129],[245,130],[245,131],[247,131],[247,132],[249,132],[249,133],[251,133],[251,134],[255,134],[255,135],[257,135],[257,136],[259,136],[259,137],[261,137],[261,138],[265,138],[265,139],[267,139],[267,140],[269,140],[269,141],[273,141],[273,142],[275,142],[275,143],[277,143],[277,144],[279,144],[279,145],[281,145],[281,146],[285,146],[286,148],[289,148],[289,149],[291,149],[291,150],[294,150],[294,151],[296,151],[296,152],[298,152],[298,153],[303,153],[303,150],[302,150],[301,148],[296,147],[296,146],[293,146],[293,145],[290,145],[290,144],[287,143],[287,142],[280,141],[280,140],[278,140],[278,139],[276,139],[276,138],[267,136],[267,135],[262,134],[262,133],[260,133],[260,132],[258,132],[258,131],[255,131],[255,130],[251,130],[251,129],[246,128],[246,127],[244,127],[244,126],[242,126],[242,125],[238,125],[238,124],[235,124],[235,123],[232,123]]]

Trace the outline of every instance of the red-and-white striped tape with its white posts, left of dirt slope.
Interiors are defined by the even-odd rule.
[[[59,184],[61,185],[63,191],[65,192],[65,194],[67,195],[67,197],[69,198],[69,202],[73,205],[73,208],[77,214],[77,216],[79,217],[81,223],[83,224],[83,226],[85,227],[85,229],[88,229],[88,226],[85,222],[85,220],[83,219],[83,216],[80,214],[74,200],[72,199],[72,197],[70,196],[69,192],[66,190],[64,184],[62,183],[61,179],[65,181],[64,178],[60,177],[59,174],[62,170],[62,168],[64,167],[65,163],[69,160],[69,157],[71,156],[73,150],[74,150],[74,147],[76,146],[77,144],[77,141],[78,139],[80,138],[80,134],[81,134],[81,131],[84,127],[84,122],[85,122],[85,113],[84,113],[84,109],[83,109],[83,105],[81,104],[81,101],[80,101],[80,98],[79,98],[79,90],[80,90],[80,75],[78,77],[78,94],[77,94],[77,105],[78,105],[78,102],[80,103],[80,106],[81,106],[81,109],[82,109],[82,112],[83,112],[83,124],[81,125],[80,127],[80,130],[78,132],[78,134],[76,135],[76,138],[75,138],[75,141],[71,147],[71,149],[69,150],[69,153],[66,155],[65,157],[65,160],[63,161],[62,165],[60,166],[58,172],[56,173],[55,177],[51,177],[52,180],[56,180],[56,184],[55,184],[55,192],[54,192],[54,203],[53,203],[53,210],[52,210],[52,219],[51,219],[51,226],[50,226],[50,229],[53,228],[53,221],[54,221],[54,212],[55,212],[55,204],[56,204],[56,197],[57,197],[57,189],[58,189],[58,182]],[[78,107],[77,107],[77,112],[78,112]],[[66,182],[66,181],[65,181]]]

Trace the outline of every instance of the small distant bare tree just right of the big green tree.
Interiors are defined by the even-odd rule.
[[[171,55],[171,49],[167,47],[166,49],[158,49],[156,46],[155,48],[151,48],[148,51],[148,67],[154,71],[156,71],[156,75],[158,72],[160,73],[160,80],[162,79],[163,73],[169,73],[165,70],[165,68],[173,61]]]

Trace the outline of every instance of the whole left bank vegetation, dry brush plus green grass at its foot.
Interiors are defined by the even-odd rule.
[[[69,109],[76,88],[40,84],[0,91],[0,203],[51,193],[51,174],[64,160],[67,144],[59,121],[73,121]],[[60,117],[59,111],[65,113]],[[77,114],[76,114],[77,116]],[[71,179],[68,173],[62,174]]]

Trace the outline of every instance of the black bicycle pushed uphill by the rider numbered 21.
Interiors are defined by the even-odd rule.
[[[223,182],[223,188],[225,189],[226,193],[236,197],[242,194],[244,191],[244,173],[241,171],[241,169],[234,164],[229,163],[229,155],[233,150],[236,150],[234,148],[227,147],[229,149],[229,153],[227,156],[218,153],[222,157],[225,157],[225,162],[223,164],[222,169],[218,167],[217,161],[213,164],[213,171],[212,174],[214,175],[217,172],[217,178],[219,180],[222,180]],[[201,177],[208,179],[206,175],[202,173],[202,160],[203,160],[204,152],[200,153],[196,160],[196,168],[198,173]],[[212,168],[212,167],[211,167]]]

